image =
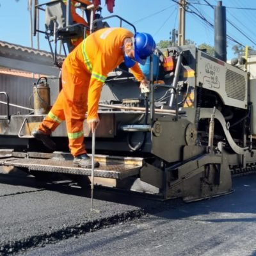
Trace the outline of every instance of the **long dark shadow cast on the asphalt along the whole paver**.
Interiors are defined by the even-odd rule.
[[[51,178],[51,181],[42,182],[29,173],[22,172],[22,170],[18,169],[11,171],[9,174],[0,174],[0,184],[26,186],[34,189],[45,189],[58,193],[67,193],[68,195],[91,198],[90,182],[88,182],[85,188],[81,188],[74,182],[74,177],[54,174],[48,178]],[[76,178],[79,179],[77,175]],[[148,208],[147,212],[149,213],[164,211],[164,209],[171,209],[171,211],[161,213],[162,217],[168,219],[190,218],[191,216],[208,214],[209,212],[255,213],[256,175],[234,178],[233,188],[234,193],[232,194],[191,202],[189,204],[184,203],[179,198],[175,200],[162,201],[159,200],[159,197],[157,196],[145,195],[144,193],[135,193],[131,191],[122,191],[120,189],[106,188],[102,186],[95,186],[93,198],[118,204],[133,205],[140,208],[145,207]],[[222,220],[208,221],[221,222]],[[228,216],[227,218],[224,218],[223,221],[228,221]],[[231,219],[229,221],[233,220]],[[244,221],[255,220],[244,219]]]

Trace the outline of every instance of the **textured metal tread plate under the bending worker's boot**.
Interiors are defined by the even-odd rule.
[[[28,170],[38,172],[70,173],[77,175],[92,175],[91,168],[81,168],[75,166],[72,160],[63,159],[38,159],[38,158],[17,158],[7,157],[0,160],[4,166],[15,166],[17,168],[28,168]],[[94,168],[95,177],[111,179],[124,179],[140,173],[141,166],[138,164],[124,163],[100,163],[98,168]]]

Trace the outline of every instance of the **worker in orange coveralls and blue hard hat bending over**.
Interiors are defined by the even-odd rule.
[[[74,164],[90,168],[92,159],[84,147],[83,122],[87,111],[87,123],[95,131],[99,125],[98,105],[102,85],[108,73],[124,61],[132,74],[140,81],[140,88],[148,87],[147,78],[138,62],[145,64],[156,47],[151,35],[136,33],[124,28],[104,28],[92,33],[79,44],[63,62],[62,90],[51,111],[33,131],[33,136],[54,150],[51,132],[66,121],[68,146]],[[129,88],[127,88],[129,90]],[[94,163],[95,167],[99,163]]]

